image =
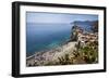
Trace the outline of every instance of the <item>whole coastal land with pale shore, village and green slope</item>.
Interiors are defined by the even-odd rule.
[[[36,52],[26,58],[27,67],[95,63],[98,63],[98,31],[88,32],[77,25],[72,27],[70,40],[65,44]]]

